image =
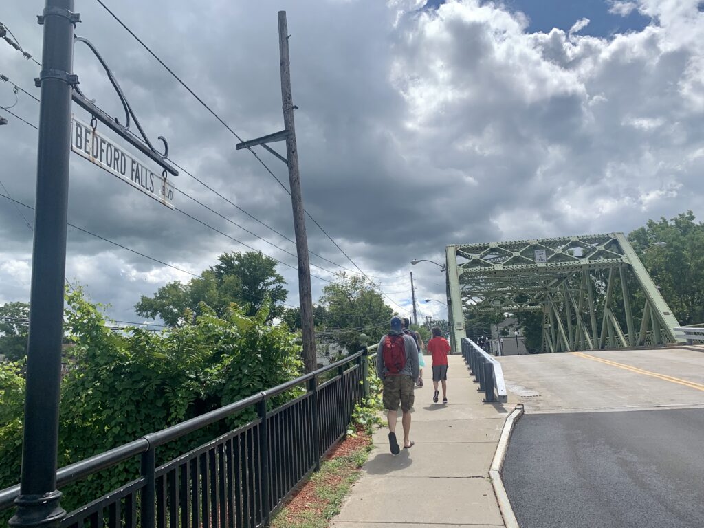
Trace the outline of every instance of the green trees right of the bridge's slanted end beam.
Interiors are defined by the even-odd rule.
[[[648,220],[629,241],[679,323],[704,322],[704,225],[691,210],[669,221]]]

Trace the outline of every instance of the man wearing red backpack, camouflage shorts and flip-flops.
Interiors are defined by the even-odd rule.
[[[391,318],[391,332],[382,337],[377,348],[377,373],[384,382],[384,408],[389,411],[389,447],[401,452],[396,440],[398,406],[403,411],[403,448],[410,449],[410,408],[413,407],[413,386],[418,378],[418,348],[415,339],[403,333],[401,318]]]

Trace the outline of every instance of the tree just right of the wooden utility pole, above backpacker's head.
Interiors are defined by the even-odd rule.
[[[366,277],[346,273],[340,273],[335,282],[323,288],[320,305],[327,312],[327,336],[348,352],[357,351],[361,333],[372,344],[379,341],[394,315],[375,284]]]

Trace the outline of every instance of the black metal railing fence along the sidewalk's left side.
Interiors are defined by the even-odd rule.
[[[301,479],[341,439],[368,384],[367,350],[57,472],[58,487],[141,456],[141,476],[69,513],[62,528],[244,528],[267,524]],[[318,384],[321,375],[336,375]],[[268,409],[296,387],[305,394]],[[368,393],[367,393],[368,395]],[[156,467],[156,449],[248,408],[258,417]],[[11,508],[19,486],[0,491]]]

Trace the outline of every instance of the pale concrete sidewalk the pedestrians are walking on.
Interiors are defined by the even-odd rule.
[[[482,403],[461,356],[449,358],[448,405],[433,403],[432,358],[415,389],[411,449],[389,451],[389,429],[374,434],[363,476],[334,518],[335,528],[503,527],[489,466],[510,404]],[[442,401],[442,391],[440,391]],[[400,413],[399,413],[400,414]],[[403,441],[399,417],[398,442]]]

